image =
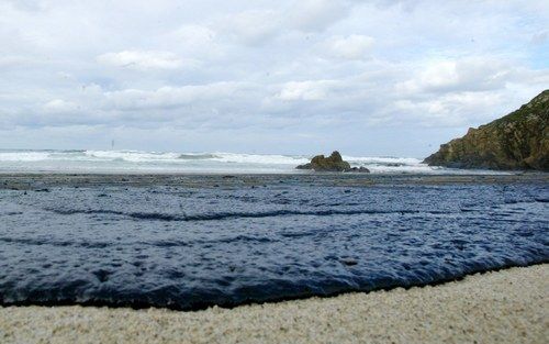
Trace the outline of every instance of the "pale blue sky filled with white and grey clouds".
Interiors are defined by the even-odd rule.
[[[549,1],[0,0],[0,148],[425,157],[549,88]]]

